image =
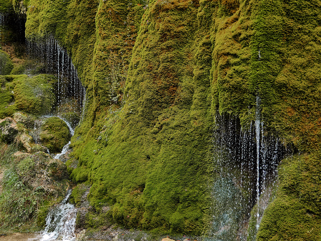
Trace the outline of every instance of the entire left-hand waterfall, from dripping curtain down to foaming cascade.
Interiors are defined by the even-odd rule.
[[[69,108],[68,111],[72,106],[74,113],[82,117],[86,92],[67,51],[52,36],[48,36],[35,42],[27,41],[27,53],[33,59],[38,60],[44,73],[56,75],[58,78],[57,111],[55,114],[45,117],[57,116],[61,118],[69,127],[70,134],[73,135],[74,128],[80,119],[76,122],[69,122],[63,115],[66,112],[66,106]],[[70,141],[63,147],[62,152],[56,154],[54,158],[60,159],[66,154],[69,145]],[[75,239],[74,228],[77,209],[67,202],[70,194],[71,190],[68,191],[61,204],[53,207],[49,212],[46,218],[46,228],[41,238],[42,241]]]

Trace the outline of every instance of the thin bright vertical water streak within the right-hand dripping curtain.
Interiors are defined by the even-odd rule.
[[[260,198],[260,97],[256,96],[255,137],[256,137],[256,228],[259,228],[259,198]]]

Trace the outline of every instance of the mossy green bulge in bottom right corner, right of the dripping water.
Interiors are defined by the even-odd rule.
[[[279,187],[267,207],[256,240],[319,240],[321,237],[319,156],[287,158]]]

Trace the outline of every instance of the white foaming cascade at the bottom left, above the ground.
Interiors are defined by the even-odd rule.
[[[68,190],[64,200],[49,211],[41,241],[75,240],[74,230],[77,209],[67,202],[70,194],[71,190]]]

